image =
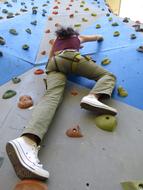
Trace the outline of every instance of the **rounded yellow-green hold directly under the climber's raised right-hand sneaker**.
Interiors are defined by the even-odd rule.
[[[117,120],[112,115],[100,115],[95,118],[95,124],[105,131],[113,131],[117,126]]]

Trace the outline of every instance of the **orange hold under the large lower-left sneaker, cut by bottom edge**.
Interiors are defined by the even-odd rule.
[[[48,186],[38,180],[26,179],[16,184],[14,190],[48,190]]]

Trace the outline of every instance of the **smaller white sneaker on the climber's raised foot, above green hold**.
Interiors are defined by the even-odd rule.
[[[116,109],[101,103],[93,94],[84,96],[80,102],[80,106],[81,108],[85,108],[90,111],[95,111],[98,114],[117,114]]]

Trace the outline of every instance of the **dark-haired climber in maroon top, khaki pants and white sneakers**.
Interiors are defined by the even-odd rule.
[[[80,36],[74,29],[61,27],[56,31],[48,64],[47,90],[33,111],[32,118],[21,137],[9,141],[7,154],[21,179],[34,178],[46,180],[49,172],[38,159],[39,144],[48,131],[55,112],[62,101],[68,73],[95,80],[96,84],[89,94],[82,98],[81,107],[97,114],[116,115],[117,110],[101,103],[102,96],[110,97],[115,85],[115,76],[98,66],[89,57],[79,53],[81,44],[89,41],[102,41],[102,36]]]

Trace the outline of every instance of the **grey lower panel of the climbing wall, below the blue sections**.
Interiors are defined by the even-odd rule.
[[[10,81],[0,88],[0,96],[9,88],[17,91],[9,100],[0,99],[2,190],[12,190],[19,181],[6,155],[5,144],[21,134],[32,113],[32,110],[17,107],[18,98],[30,95],[35,106],[45,91],[44,75],[36,76],[33,71],[23,74],[21,83]],[[71,95],[73,88],[78,91],[77,96]],[[50,190],[121,190],[120,182],[142,179],[143,112],[114,100],[107,101],[119,114],[116,130],[105,132],[96,127],[93,113],[80,109],[80,100],[88,91],[68,82],[64,101],[42,142],[39,157],[51,174],[47,181]],[[76,125],[84,136],[79,139],[67,137],[66,130]]]

